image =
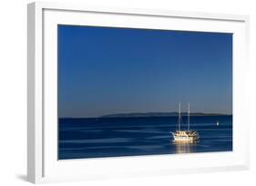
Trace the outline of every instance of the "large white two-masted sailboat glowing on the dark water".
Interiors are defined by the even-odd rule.
[[[190,113],[189,113],[189,103],[188,103],[188,130],[182,131],[180,129],[181,125],[181,113],[180,113],[180,103],[179,103],[179,120],[178,120],[178,131],[170,132],[173,135],[174,142],[196,142],[200,139],[200,135],[197,131],[191,131],[190,125]]]

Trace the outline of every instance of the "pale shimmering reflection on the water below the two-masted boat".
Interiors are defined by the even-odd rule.
[[[176,153],[190,153],[196,152],[198,142],[175,142],[172,141],[172,144],[175,146]]]

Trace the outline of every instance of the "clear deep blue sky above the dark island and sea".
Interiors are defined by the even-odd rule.
[[[232,34],[58,25],[58,115],[232,113]]]

